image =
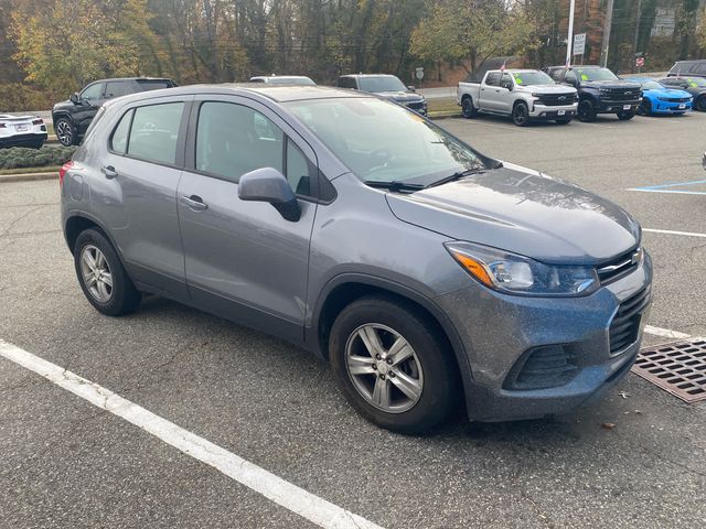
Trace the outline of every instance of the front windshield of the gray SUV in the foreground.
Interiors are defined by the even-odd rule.
[[[363,181],[428,185],[485,169],[470,147],[392,102],[357,97],[286,106]]]

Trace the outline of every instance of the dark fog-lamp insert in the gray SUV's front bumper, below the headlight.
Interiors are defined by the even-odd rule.
[[[578,369],[576,357],[567,347],[536,347],[520,358],[507,376],[504,387],[517,390],[556,388],[568,384]]]

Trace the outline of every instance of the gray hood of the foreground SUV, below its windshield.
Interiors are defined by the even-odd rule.
[[[610,201],[510,163],[386,197],[403,222],[547,263],[595,264],[640,240],[638,222]]]

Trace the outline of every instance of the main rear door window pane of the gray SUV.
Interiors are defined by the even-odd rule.
[[[183,109],[183,102],[136,108],[128,154],[150,162],[174,164]]]

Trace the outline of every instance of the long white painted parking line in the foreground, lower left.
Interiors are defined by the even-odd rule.
[[[110,390],[2,339],[0,339],[0,356],[141,428],[184,454],[213,466],[232,479],[320,527],[382,529],[372,521],[277,477]]]

